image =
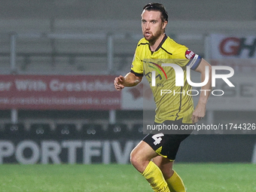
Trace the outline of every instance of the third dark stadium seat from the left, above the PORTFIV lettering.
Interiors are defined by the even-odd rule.
[[[78,130],[75,124],[59,123],[56,124],[54,135],[56,139],[78,139]]]

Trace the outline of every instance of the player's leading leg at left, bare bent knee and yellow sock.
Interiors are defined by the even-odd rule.
[[[146,143],[139,142],[131,152],[131,163],[147,179],[154,191],[170,192],[159,167],[151,161],[157,153]]]

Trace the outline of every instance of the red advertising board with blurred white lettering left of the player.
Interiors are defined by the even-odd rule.
[[[119,109],[111,75],[0,75],[0,109]]]

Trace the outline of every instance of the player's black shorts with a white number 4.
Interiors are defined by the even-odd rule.
[[[164,123],[173,123],[174,121],[165,121]],[[182,124],[182,123],[181,123]],[[156,133],[151,134],[149,133],[143,139],[144,142],[148,143],[157,154],[161,155],[162,157],[167,157],[169,160],[175,160],[176,154],[178,153],[178,148],[181,142],[190,136],[189,133],[186,134],[163,134],[163,133]]]

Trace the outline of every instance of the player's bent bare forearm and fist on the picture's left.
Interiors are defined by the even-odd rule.
[[[114,78],[114,88],[116,90],[123,90],[124,87],[133,87],[142,81],[142,76],[136,76],[132,72],[127,73],[124,77],[120,75]]]

